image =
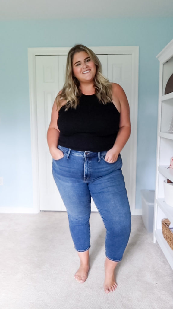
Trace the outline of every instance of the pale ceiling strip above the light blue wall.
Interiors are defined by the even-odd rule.
[[[0,0],[0,20],[171,17],[172,0]]]

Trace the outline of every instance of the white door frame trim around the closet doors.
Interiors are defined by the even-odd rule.
[[[141,209],[135,209],[136,198],[136,158],[137,158],[137,127],[138,127],[138,68],[139,46],[91,46],[96,54],[131,54],[132,55],[132,89],[130,109],[132,132],[130,136],[130,204],[131,214],[141,215]],[[39,203],[39,167],[38,167],[38,135],[37,135],[37,111],[36,111],[36,73],[35,56],[67,55],[71,47],[47,47],[28,48],[28,73],[29,73],[29,97],[30,97],[30,122],[31,122],[31,157],[32,157],[32,182],[33,182],[33,213],[40,212]]]

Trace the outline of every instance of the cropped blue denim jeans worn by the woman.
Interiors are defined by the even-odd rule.
[[[52,172],[67,209],[70,232],[78,252],[90,248],[91,197],[106,228],[106,256],[122,260],[130,236],[131,215],[122,175],[121,155],[114,163],[106,152],[76,151],[58,146],[64,153],[53,159]]]

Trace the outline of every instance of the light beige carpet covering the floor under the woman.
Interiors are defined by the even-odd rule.
[[[1,309],[169,309],[173,272],[140,216],[123,260],[117,265],[117,290],[103,291],[105,228],[92,213],[91,269],[87,281],[73,278],[79,261],[65,212],[1,214]]]

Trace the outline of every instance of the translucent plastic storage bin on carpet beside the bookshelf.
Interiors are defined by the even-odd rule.
[[[154,224],[154,190],[141,190],[142,220],[148,233],[153,233]]]

